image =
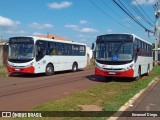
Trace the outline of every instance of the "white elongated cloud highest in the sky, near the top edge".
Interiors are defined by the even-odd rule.
[[[68,1],[62,1],[61,3],[53,2],[48,4],[48,7],[51,9],[62,9],[71,6],[73,3]]]

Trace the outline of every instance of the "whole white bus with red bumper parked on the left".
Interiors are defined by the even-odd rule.
[[[9,39],[8,71],[11,73],[45,73],[84,68],[86,45],[41,37]]]

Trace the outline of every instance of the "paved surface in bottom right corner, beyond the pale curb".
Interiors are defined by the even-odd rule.
[[[142,93],[123,115],[125,117],[117,120],[160,120],[160,79]]]

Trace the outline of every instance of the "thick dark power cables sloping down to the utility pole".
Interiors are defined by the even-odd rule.
[[[119,0],[118,0],[119,1]],[[120,3],[121,3],[121,5],[123,6],[121,6],[118,2],[116,2],[115,0],[113,0],[113,2],[123,11],[123,12],[125,12],[132,20],[134,20],[137,24],[139,24],[142,28],[144,28],[145,29],[145,31],[147,31],[147,32],[151,32],[151,33],[154,33],[153,31],[151,31],[151,30],[149,30],[149,29],[147,29],[145,26],[143,26],[129,11],[129,13],[123,8],[123,7],[125,7],[124,5],[123,5],[123,3],[121,2],[121,1],[119,1]],[[125,7],[126,8],[126,7]],[[127,8],[126,8],[127,9]],[[127,9],[128,10],[128,9]]]

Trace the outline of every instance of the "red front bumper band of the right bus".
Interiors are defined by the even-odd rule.
[[[95,74],[100,75],[100,76],[113,76],[113,77],[133,77],[134,75],[134,70],[130,69],[127,71],[119,71],[119,72],[109,72],[109,71],[104,71],[100,70],[98,68],[95,68]]]

